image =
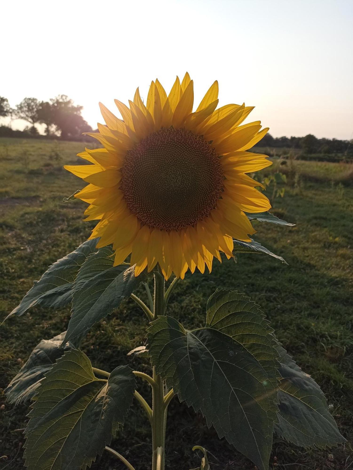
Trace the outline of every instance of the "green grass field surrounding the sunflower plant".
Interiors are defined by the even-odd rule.
[[[85,204],[64,203],[82,187],[63,164],[77,162],[83,144],[0,139],[0,321],[19,303],[47,266],[72,251],[89,235],[91,222],[82,222]],[[246,292],[263,307],[277,337],[305,372],[325,392],[345,446],[305,450],[274,438],[270,469],[353,469],[353,186],[346,175],[352,167],[295,161],[286,172],[283,198],[274,201],[275,214],[297,225],[277,227],[256,222],[257,241],[283,256],[289,266],[265,255],[240,254],[217,261],[211,274],[186,275],[168,305],[168,313],[186,328],[204,324],[207,298],[217,287]],[[286,167],[286,168],[284,168]],[[271,168],[271,167],[270,167]],[[319,175],[319,176],[318,176]],[[345,177],[344,177],[345,175]],[[143,292],[141,291],[143,296]],[[69,309],[33,308],[0,327],[0,469],[23,468],[24,428],[28,408],[5,401],[3,389],[42,338],[64,331]],[[144,315],[132,300],[97,324],[83,342],[98,368],[111,370],[132,363],[126,353],[144,341]],[[136,365],[137,362],[137,365]],[[134,368],[148,371],[147,362]],[[141,384],[147,398],[148,389]],[[208,429],[201,415],[172,402],[168,414],[167,469],[187,470],[200,465],[191,448],[211,452],[212,470],[246,470],[254,466],[225,439]],[[20,430],[20,431],[19,431]],[[123,434],[112,447],[139,469],[149,468],[151,437],[142,413],[134,407]],[[108,454],[92,469],[122,470]]]

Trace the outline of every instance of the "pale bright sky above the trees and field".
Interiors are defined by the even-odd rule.
[[[195,103],[217,79],[219,106],[255,106],[247,122],[275,137],[353,138],[353,0],[12,0],[1,16],[12,107],[67,94],[96,128],[98,102],[119,116],[114,98],[188,71]]]

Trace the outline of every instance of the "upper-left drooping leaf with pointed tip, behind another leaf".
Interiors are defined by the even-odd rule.
[[[71,302],[72,282],[85,259],[95,250],[97,239],[87,240],[75,251],[49,266],[39,281],[10,315],[23,315],[34,305],[60,308]]]

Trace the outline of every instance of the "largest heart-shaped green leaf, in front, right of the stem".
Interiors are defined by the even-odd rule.
[[[162,316],[147,332],[152,365],[168,387],[201,410],[220,438],[268,470],[278,354],[257,305],[237,292],[216,291],[205,328],[188,331]]]

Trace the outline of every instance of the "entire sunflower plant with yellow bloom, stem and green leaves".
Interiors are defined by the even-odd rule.
[[[211,272],[216,260],[245,251],[284,262],[251,238],[252,221],[293,225],[268,212],[261,183],[249,176],[271,164],[251,151],[268,131],[260,121],[244,124],[253,108],[218,107],[217,81],[196,110],[193,101],[186,73],[168,94],[152,81],[145,103],[138,89],[128,106],[116,100],[120,118],[100,104],[105,124],[89,135],[101,147],[81,152],[84,164],[65,166],[86,183],[72,199],[88,204],[84,215],[94,228],[10,313],[72,303],[67,330],[42,340],[6,390],[10,402],[31,401],[24,452],[29,470],[86,469],[104,450],[119,468],[134,470],[133,454],[129,462],[110,447],[117,433],[119,446],[133,404],[142,407],[152,430],[151,464],[144,469],[168,468],[172,400],[200,411],[258,470],[269,468],[273,433],[304,447],[345,440],[320,387],[249,297],[216,290],[205,321],[194,329],[168,314],[177,283],[196,271]],[[145,316],[144,344],[111,371],[96,368],[80,344],[127,298]],[[135,370],[137,357],[144,357],[144,371]],[[208,443],[193,444],[203,453],[198,468],[209,469]],[[178,469],[187,470],[183,462]]]

